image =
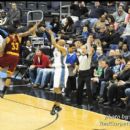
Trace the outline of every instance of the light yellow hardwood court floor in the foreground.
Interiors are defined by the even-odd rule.
[[[127,121],[63,104],[58,116],[51,116],[52,105],[25,94],[6,95],[0,99],[0,130],[130,130]]]

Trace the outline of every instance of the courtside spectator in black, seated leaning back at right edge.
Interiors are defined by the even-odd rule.
[[[129,88],[129,85],[125,83],[130,78],[130,61],[127,62],[124,69],[118,75],[113,75],[113,77],[115,80],[108,86],[108,102],[104,103],[104,105],[112,105],[115,98],[116,105],[121,106],[121,98],[125,95],[125,89]]]

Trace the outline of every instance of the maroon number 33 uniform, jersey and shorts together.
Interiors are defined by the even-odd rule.
[[[18,35],[10,35],[6,38],[5,53],[0,57],[0,67],[8,67],[8,73],[15,71],[19,61],[21,38]]]

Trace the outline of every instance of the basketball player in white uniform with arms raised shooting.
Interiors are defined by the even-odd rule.
[[[51,110],[51,115],[54,115],[56,112],[59,112],[61,110],[60,107],[60,99],[61,99],[61,93],[62,88],[66,86],[67,82],[67,75],[68,75],[68,68],[65,64],[66,61],[66,48],[65,40],[60,39],[58,42],[56,42],[54,38],[54,34],[50,29],[47,29],[47,32],[51,36],[51,43],[54,46],[54,93],[55,93],[55,103]]]

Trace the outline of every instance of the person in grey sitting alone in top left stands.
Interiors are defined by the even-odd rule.
[[[18,20],[20,21],[20,10],[17,8],[15,2],[11,4],[11,9],[7,15],[7,23],[6,24],[13,24],[13,21]]]

